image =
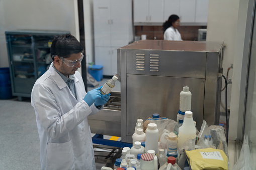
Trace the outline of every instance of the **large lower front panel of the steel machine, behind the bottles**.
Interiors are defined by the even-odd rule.
[[[190,87],[193,118],[201,127],[205,79],[127,74],[127,135],[134,133],[138,118],[146,120],[152,113],[176,120],[183,86]]]

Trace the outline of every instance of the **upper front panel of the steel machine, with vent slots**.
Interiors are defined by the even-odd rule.
[[[127,50],[126,55],[127,74],[205,78],[206,53]]]

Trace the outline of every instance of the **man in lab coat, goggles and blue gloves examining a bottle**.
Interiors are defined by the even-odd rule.
[[[40,138],[41,169],[96,169],[88,116],[109,100],[100,89],[86,93],[77,72],[81,44],[70,34],[54,37],[53,62],[35,83],[31,104]]]

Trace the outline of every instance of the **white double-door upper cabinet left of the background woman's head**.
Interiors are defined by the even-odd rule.
[[[163,0],[134,0],[133,12],[134,23],[162,23]]]

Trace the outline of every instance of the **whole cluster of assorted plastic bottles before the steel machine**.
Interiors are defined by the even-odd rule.
[[[158,119],[159,114],[154,113],[151,118]],[[188,139],[196,140],[198,132],[191,112],[191,92],[189,87],[184,87],[180,94],[180,110],[177,115],[177,121],[178,124],[175,127],[175,131],[170,132],[164,129],[158,142],[159,131],[157,125],[149,123],[144,132],[143,120],[138,119],[132,135],[133,146],[131,148],[123,148],[122,156],[116,159],[114,169],[188,169],[187,166],[184,167],[186,158],[179,161],[177,148],[181,148]],[[102,170],[107,169],[112,168],[102,167]]]

